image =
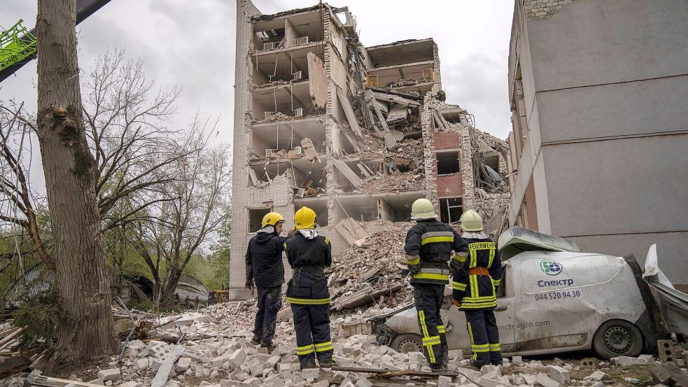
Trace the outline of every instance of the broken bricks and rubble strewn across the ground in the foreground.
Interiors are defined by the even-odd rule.
[[[384,232],[403,230],[384,230]],[[389,246],[391,250],[393,246]],[[364,250],[365,251],[365,250]],[[365,252],[358,251],[365,257]],[[356,316],[386,312],[374,306]],[[333,318],[332,342],[337,367],[301,371],[295,355],[293,325],[279,323],[276,348],[266,349],[248,343],[255,314],[255,300],[214,304],[178,316],[148,318],[152,337],[127,343],[121,363],[113,356],[97,367],[86,367],[72,374],[64,371],[48,377],[36,369],[0,381],[8,386],[686,386],[688,373],[675,363],[657,365],[649,355],[638,358],[620,356],[610,362],[597,359],[523,360],[514,356],[501,366],[470,368],[462,351],[450,351],[449,369],[428,376],[422,353],[397,353],[377,345],[370,334],[345,337],[346,318]],[[353,319],[353,316],[352,316]],[[350,332],[349,332],[350,333]],[[6,336],[7,337],[7,336]],[[390,379],[391,378],[391,379]],[[387,384],[385,384],[387,383]]]

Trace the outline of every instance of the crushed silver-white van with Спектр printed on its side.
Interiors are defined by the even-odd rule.
[[[504,232],[498,246],[503,277],[495,315],[505,355],[593,349],[603,358],[638,356],[657,341],[652,309],[646,307],[651,302],[640,293],[642,273],[633,258],[581,253],[572,241],[520,227]],[[448,289],[442,311],[449,349],[468,353],[465,317],[450,294]],[[370,321],[380,344],[421,351],[413,304]]]

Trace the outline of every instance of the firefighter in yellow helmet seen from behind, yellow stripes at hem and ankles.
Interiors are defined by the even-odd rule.
[[[295,233],[284,249],[294,274],[287,286],[287,301],[294,314],[296,354],[301,369],[332,367],[330,291],[325,269],[332,265],[330,241],[318,235],[316,213],[302,207],[294,215]]]

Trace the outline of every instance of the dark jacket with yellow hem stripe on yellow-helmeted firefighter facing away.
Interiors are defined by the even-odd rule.
[[[330,241],[318,235],[306,239],[300,232],[284,244],[294,274],[287,286],[287,301],[292,304],[330,304],[330,290],[325,267],[332,265]]]

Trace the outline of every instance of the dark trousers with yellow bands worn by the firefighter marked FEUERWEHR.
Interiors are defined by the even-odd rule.
[[[466,310],[466,328],[473,361],[479,366],[502,364],[499,328],[492,309]]]

